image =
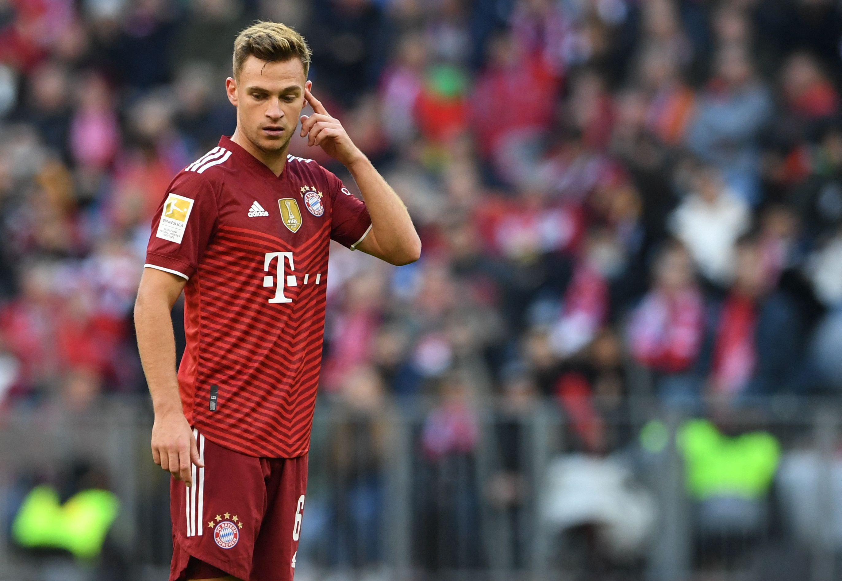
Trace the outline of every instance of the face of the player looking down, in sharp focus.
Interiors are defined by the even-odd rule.
[[[249,56],[237,80],[228,77],[228,100],[237,107],[237,127],[254,147],[280,152],[289,144],[310,88],[297,58],[267,62]]]

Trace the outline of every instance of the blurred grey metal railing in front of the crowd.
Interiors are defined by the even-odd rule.
[[[404,400],[360,413],[322,397],[296,576],[682,581],[715,573],[735,581],[831,581],[842,575],[839,403],[768,400],[760,412],[734,416],[739,431],[773,434],[783,463],[767,494],[717,506],[687,492],[675,445],[685,418],[651,400],[611,418],[609,427],[625,439],[584,454],[552,401],[520,411],[475,402],[467,417],[476,431],[431,450],[425,438],[440,435],[430,428],[439,402]],[[642,440],[653,419],[660,445]],[[0,579],[165,578],[168,475],[152,464],[151,426],[141,397],[84,414],[30,409],[0,418]],[[13,546],[8,519],[21,492],[39,479],[61,481],[80,464],[122,504],[99,562]],[[589,520],[604,509],[589,495],[603,472],[620,475],[617,489],[626,496],[603,520]],[[743,517],[722,518],[741,510]],[[787,567],[797,577],[787,577]]]

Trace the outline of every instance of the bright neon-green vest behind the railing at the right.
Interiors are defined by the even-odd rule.
[[[781,461],[781,446],[768,432],[727,436],[706,419],[684,424],[678,434],[687,488],[697,500],[714,496],[762,498]]]

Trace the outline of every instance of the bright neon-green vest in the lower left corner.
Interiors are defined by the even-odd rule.
[[[56,490],[39,486],[20,505],[12,536],[21,546],[67,549],[77,558],[93,558],[119,512],[120,501],[107,490],[83,490],[59,504]]]

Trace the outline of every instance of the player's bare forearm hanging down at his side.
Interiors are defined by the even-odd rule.
[[[170,306],[163,296],[137,296],[135,328],[143,372],[157,414],[182,413],[175,373],[175,336]]]

